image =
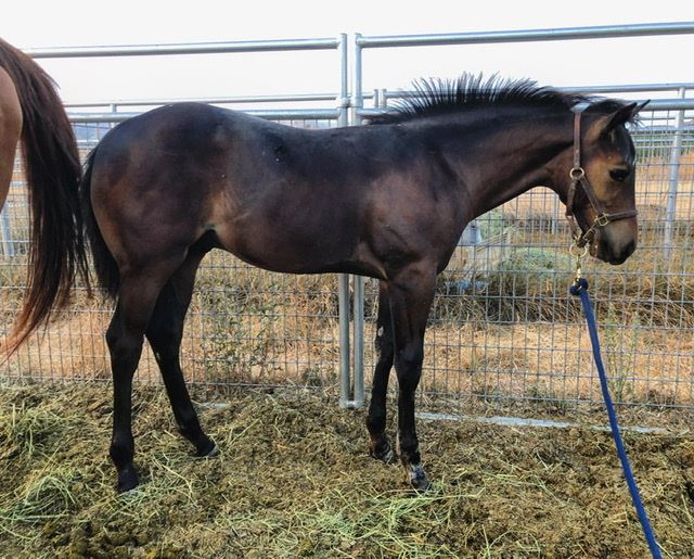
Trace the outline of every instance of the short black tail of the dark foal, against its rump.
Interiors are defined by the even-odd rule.
[[[85,227],[87,231],[87,238],[89,239],[89,246],[91,247],[91,255],[94,265],[94,271],[97,272],[97,279],[99,285],[104,289],[106,295],[111,298],[115,298],[118,293],[118,287],[120,285],[120,275],[118,272],[118,266],[116,264],[113,254],[106,246],[97,218],[94,217],[94,211],[91,205],[91,174],[94,167],[94,157],[97,156],[97,150],[94,148],[87,157],[85,163],[85,176],[79,188],[81,195],[82,215],[85,217]]]

